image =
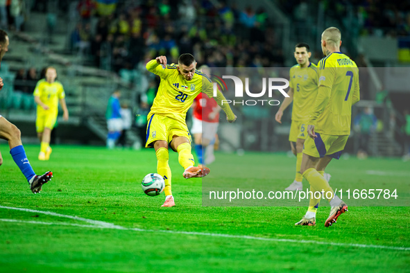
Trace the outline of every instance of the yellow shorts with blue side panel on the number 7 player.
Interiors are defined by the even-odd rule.
[[[339,159],[349,136],[332,136],[330,134],[319,134],[312,139],[308,137],[303,146],[303,153],[311,157],[332,157]]]

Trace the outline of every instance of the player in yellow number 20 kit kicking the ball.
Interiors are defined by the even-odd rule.
[[[157,173],[164,177],[166,195],[162,206],[175,206],[171,192],[171,169],[168,165],[168,147],[178,152],[178,161],[185,169],[183,176],[204,177],[210,173],[209,168],[194,166],[191,154],[191,134],[185,123],[185,117],[194,98],[202,91],[212,96],[212,82],[203,73],[196,71],[196,61],[191,54],[182,54],[177,64],[166,64],[166,57],[160,56],[146,64],[148,71],[160,76],[161,82],[151,112],[148,114],[146,130],[146,147],[155,148],[157,156]],[[228,122],[232,123],[234,115],[228,104],[222,105],[225,97],[217,91],[216,102],[226,113]]]

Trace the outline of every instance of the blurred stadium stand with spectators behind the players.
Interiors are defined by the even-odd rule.
[[[137,113],[147,98],[149,83],[158,84],[145,69],[147,60],[155,55],[167,55],[176,62],[180,53],[189,52],[198,63],[210,67],[291,67],[293,45],[304,41],[315,45],[311,60],[317,63],[322,55],[318,46],[321,33],[317,31],[332,25],[342,30],[342,51],[359,67],[366,67],[361,74],[361,84],[366,87],[361,89],[361,102],[354,113],[363,107],[375,108],[379,130],[370,139],[373,155],[402,152],[402,112],[408,106],[400,98],[408,98],[409,93],[395,89],[395,77],[402,73],[397,67],[409,62],[410,7],[406,2],[264,0],[252,6],[248,1],[207,0],[25,3],[22,31],[13,30],[14,17],[4,23],[10,26],[13,49],[1,64],[7,88],[0,94],[0,106],[11,120],[24,116],[34,121],[30,91],[13,87],[26,85],[21,79],[13,83],[20,69],[40,71],[46,65],[55,66],[74,116],[70,122],[88,128],[90,139],[103,141],[103,111],[109,94],[121,87]],[[384,81],[382,74],[387,70],[379,67],[396,67],[389,70],[391,82]],[[391,103],[386,99],[376,103],[381,94]],[[285,140],[286,130],[275,125],[273,113],[261,114],[257,108],[237,111],[238,124],[252,123],[249,121],[259,115],[275,139],[244,137],[242,147],[271,151],[282,147],[277,141]],[[383,126],[385,130],[380,129]],[[254,131],[255,123],[244,128]],[[136,127],[133,130],[130,141],[137,141]],[[357,150],[357,145],[350,150]]]

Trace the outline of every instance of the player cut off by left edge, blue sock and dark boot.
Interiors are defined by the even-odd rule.
[[[8,35],[5,31],[0,30],[0,61],[3,59],[4,54],[8,51]],[[0,90],[3,88],[3,79],[0,78]],[[33,168],[31,168],[30,162],[28,162],[26,152],[24,151],[21,133],[19,128],[10,123],[3,116],[0,115],[0,138],[8,141],[10,147],[10,155],[14,159],[23,175],[26,177],[28,184],[30,185],[33,193],[40,193],[42,185],[49,182],[53,173],[46,172],[44,175],[35,175]],[[3,164],[3,157],[0,152],[0,165]]]

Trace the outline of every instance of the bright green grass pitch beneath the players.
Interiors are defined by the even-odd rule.
[[[177,206],[161,208],[164,194],[148,197],[140,186],[156,172],[153,150],[55,146],[50,161],[38,161],[40,147],[25,148],[34,170],[52,170],[54,177],[33,195],[8,146],[0,145],[0,272],[410,271],[409,207],[352,206],[325,228],[328,207],[319,209],[316,227],[295,227],[306,206],[202,206],[201,180],[183,179],[178,155],[170,152]],[[294,158],[250,157],[279,170],[274,183],[293,181]],[[237,166],[231,158],[216,155],[225,170]],[[343,180],[372,188],[383,180],[410,192],[408,163],[399,159],[350,158],[328,171],[331,185]],[[241,177],[225,172],[220,179]]]

